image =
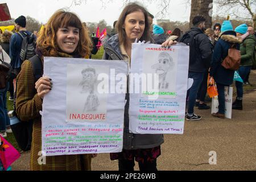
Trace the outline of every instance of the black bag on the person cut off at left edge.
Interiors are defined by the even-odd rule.
[[[10,64],[6,63],[3,59],[3,52],[0,57],[0,89],[6,88],[6,82],[13,80],[16,77],[13,67]]]

